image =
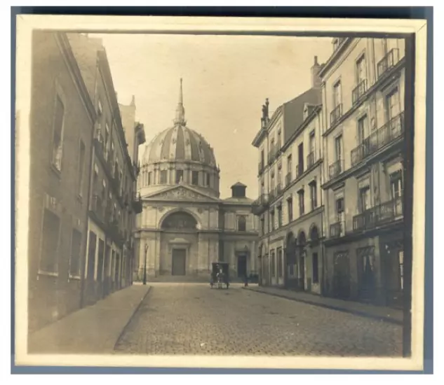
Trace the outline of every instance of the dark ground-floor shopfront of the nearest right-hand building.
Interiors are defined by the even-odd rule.
[[[325,295],[401,307],[404,238],[385,230],[325,242]]]

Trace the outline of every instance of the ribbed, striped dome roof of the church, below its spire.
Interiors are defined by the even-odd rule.
[[[215,155],[210,144],[201,134],[181,123],[158,134],[144,151],[144,164],[169,161],[195,161],[216,167]]]

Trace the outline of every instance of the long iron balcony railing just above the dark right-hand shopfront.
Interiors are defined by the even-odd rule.
[[[354,216],[353,230],[368,230],[401,218],[403,218],[403,199],[402,197],[398,197],[395,200],[378,204]]]

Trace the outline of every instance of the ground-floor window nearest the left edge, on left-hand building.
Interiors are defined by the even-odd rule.
[[[60,218],[45,209],[43,213],[43,230],[41,237],[40,270],[57,273]]]

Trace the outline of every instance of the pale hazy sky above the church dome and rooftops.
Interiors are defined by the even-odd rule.
[[[97,36],[97,35],[95,35]],[[100,35],[119,103],[135,95],[136,117],[147,143],[173,125],[183,78],[187,125],[215,149],[221,197],[245,183],[257,197],[262,104],[271,112],[311,87],[314,56],[325,62],[330,38],[281,36]],[[140,155],[143,154],[143,146]]]

